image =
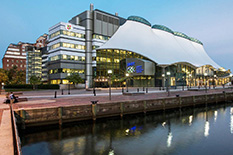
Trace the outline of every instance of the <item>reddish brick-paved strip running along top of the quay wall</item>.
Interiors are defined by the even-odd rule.
[[[176,95],[180,96],[189,96],[189,95],[203,95],[211,93],[222,93],[223,91],[230,92],[230,89],[216,89],[205,91],[171,91],[170,96],[167,92],[159,93],[148,93],[145,95],[113,95],[112,100],[109,100],[108,95],[104,96],[86,96],[86,97],[63,97],[63,98],[47,98],[47,99],[29,99],[27,102],[20,102],[13,105],[14,109],[17,108],[46,108],[46,107],[59,107],[59,106],[70,106],[70,105],[83,105],[91,104],[91,101],[98,100],[98,103],[109,103],[109,102],[119,102],[119,101],[135,101],[135,100],[149,100],[155,98],[164,98],[164,97],[175,97]]]

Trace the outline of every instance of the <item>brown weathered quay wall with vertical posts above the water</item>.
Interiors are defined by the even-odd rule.
[[[37,126],[48,124],[62,124],[81,120],[96,120],[109,116],[123,116],[125,114],[146,113],[148,111],[182,108],[210,103],[220,103],[233,100],[233,92],[205,94],[184,97],[166,97],[150,100],[121,101],[90,105],[63,106],[38,109],[17,109],[22,126]]]

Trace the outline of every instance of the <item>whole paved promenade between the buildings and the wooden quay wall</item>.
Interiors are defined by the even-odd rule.
[[[57,91],[57,98],[54,98],[55,91]],[[193,95],[203,95],[220,93],[223,91],[231,92],[229,88],[223,89],[219,87],[217,89],[210,89],[207,92],[205,90],[200,91],[187,91],[182,89],[171,89],[170,95],[165,90],[159,90],[158,88],[149,88],[148,93],[138,94],[138,95],[122,95],[122,90],[120,88],[113,88],[111,92],[111,101],[109,100],[109,89],[105,88],[101,91],[96,91],[96,96],[93,95],[92,91],[86,91],[85,89],[71,90],[70,95],[68,91],[64,90],[63,95],[61,95],[61,90],[46,90],[46,91],[29,91],[23,92],[20,97],[28,98],[26,102],[19,102],[13,105],[14,109],[30,109],[30,108],[46,108],[46,107],[60,107],[60,106],[72,106],[72,105],[90,105],[91,101],[98,100],[98,103],[110,103],[119,101],[135,101],[135,100],[149,100],[156,98],[169,98],[180,96],[193,96]],[[136,92],[136,88],[129,88],[129,92]],[[140,88],[140,92],[142,88]]]

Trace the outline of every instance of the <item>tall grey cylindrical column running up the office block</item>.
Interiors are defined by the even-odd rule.
[[[87,11],[86,23],[86,88],[92,87],[92,33],[93,33],[93,10]]]

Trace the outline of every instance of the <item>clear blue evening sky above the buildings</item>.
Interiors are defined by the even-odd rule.
[[[233,0],[7,0],[0,2],[0,58],[10,43],[30,42],[89,9],[144,17],[204,43],[208,55],[233,71]],[[2,62],[0,62],[2,67]]]

